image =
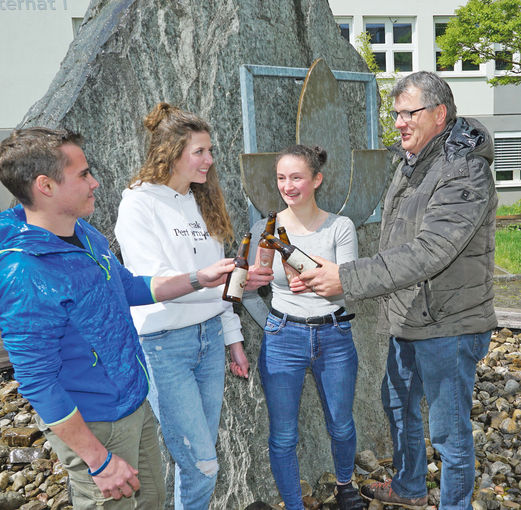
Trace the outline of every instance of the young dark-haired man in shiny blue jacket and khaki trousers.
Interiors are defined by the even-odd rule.
[[[29,128],[0,144],[0,180],[21,202],[0,214],[2,339],[69,472],[75,510],[162,510],[157,425],[130,306],[217,286],[234,265],[133,276],[81,219],[94,211],[98,182],[80,142]]]

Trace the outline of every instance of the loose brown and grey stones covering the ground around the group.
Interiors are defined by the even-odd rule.
[[[497,331],[478,364],[472,426],[476,447],[474,510],[521,510],[521,334]],[[0,510],[70,510],[67,473],[35,429],[34,411],[17,383],[0,375]],[[441,460],[427,440],[429,508],[439,505]],[[391,459],[358,452],[355,481],[362,485],[392,477]],[[336,510],[335,477],[324,473],[315,487],[302,482],[308,510]],[[279,502],[257,501],[246,510],[280,510]],[[391,510],[392,507],[389,507]],[[396,507],[395,507],[396,508]],[[371,503],[370,510],[382,510]],[[239,509],[219,509],[239,510]]]

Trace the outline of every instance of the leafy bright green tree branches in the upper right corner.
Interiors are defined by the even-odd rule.
[[[495,60],[505,74],[490,79],[491,85],[521,84],[521,0],[469,0],[436,42],[442,66],[460,59],[474,64]]]

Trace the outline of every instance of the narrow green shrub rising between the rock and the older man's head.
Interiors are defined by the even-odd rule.
[[[399,139],[398,131],[394,127],[394,120],[391,117],[391,111],[394,109],[394,100],[391,97],[391,89],[393,88],[396,76],[384,78],[382,71],[378,68],[378,64],[374,58],[371,49],[371,35],[368,32],[362,32],[356,37],[356,49],[361,57],[365,60],[369,71],[375,74],[378,88],[380,89],[380,125],[382,126],[382,142],[389,147]]]

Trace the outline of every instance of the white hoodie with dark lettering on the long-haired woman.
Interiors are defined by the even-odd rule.
[[[125,266],[136,275],[190,273],[224,257],[223,245],[209,234],[189,191],[143,183],[123,191],[115,228]],[[239,317],[222,299],[223,286],[131,308],[138,333],[180,329],[221,315],[226,345],[243,340]]]

